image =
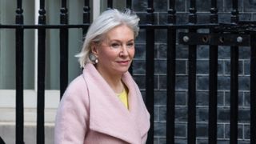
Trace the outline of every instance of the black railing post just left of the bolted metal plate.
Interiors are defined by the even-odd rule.
[[[169,1],[168,24],[176,23],[175,0]],[[175,134],[175,73],[176,73],[176,30],[167,30],[167,93],[166,93],[166,143],[174,143]]]

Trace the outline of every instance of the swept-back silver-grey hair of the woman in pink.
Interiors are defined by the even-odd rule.
[[[124,11],[119,11],[116,9],[109,9],[104,11],[94,22],[90,25],[85,41],[82,45],[82,50],[78,57],[78,62],[81,67],[84,67],[86,63],[91,62],[89,55],[91,53],[90,45],[92,42],[99,43],[102,42],[105,34],[112,30],[116,26],[125,25],[130,27],[134,31],[134,38],[138,36],[138,22],[139,18],[137,14],[134,14],[129,9]]]

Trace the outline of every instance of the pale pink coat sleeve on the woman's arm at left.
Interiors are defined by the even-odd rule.
[[[58,106],[55,129],[55,144],[82,144],[88,129],[88,92],[86,84],[70,84]]]

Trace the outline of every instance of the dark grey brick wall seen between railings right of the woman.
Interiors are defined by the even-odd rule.
[[[177,22],[188,22],[190,1],[177,0]],[[167,22],[167,0],[154,0],[155,24]],[[197,1],[198,23],[209,22],[210,0]],[[255,20],[255,0],[239,1],[240,20]],[[146,22],[147,1],[133,1],[133,8]],[[230,22],[231,0],[218,0],[219,22]],[[146,34],[141,30],[134,58],[134,79],[145,94],[146,78]],[[155,74],[154,74],[154,143],[166,143],[166,30],[155,33]],[[186,143],[187,138],[187,87],[188,49],[178,45],[176,54],[176,108],[175,143]],[[208,81],[209,46],[198,46],[197,54],[197,143],[207,143],[208,136]],[[250,143],[250,47],[239,48],[239,108],[238,143]],[[144,95],[145,96],[145,95]],[[230,47],[218,49],[218,143],[228,143],[230,137]]]

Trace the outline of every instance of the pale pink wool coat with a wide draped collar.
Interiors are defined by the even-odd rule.
[[[58,107],[55,144],[146,143],[150,114],[137,84],[127,72],[129,110],[92,64],[68,86]]]

